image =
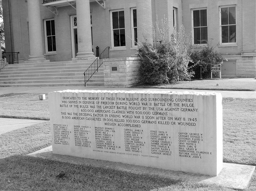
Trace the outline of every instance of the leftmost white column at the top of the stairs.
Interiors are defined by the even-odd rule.
[[[42,40],[40,1],[28,0],[28,29],[30,56],[28,60],[45,60]]]

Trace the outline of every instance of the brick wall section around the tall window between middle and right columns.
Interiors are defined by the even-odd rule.
[[[91,2],[92,12],[92,30],[94,47],[99,47],[101,53],[107,46],[110,47],[110,57],[130,57],[136,54],[136,49],[132,48],[132,26],[131,26],[131,8],[136,7],[136,0],[108,0],[106,1],[106,9],[104,10],[96,2]],[[125,37],[126,47],[124,50],[114,50],[111,47],[111,10],[124,10],[125,19]]]

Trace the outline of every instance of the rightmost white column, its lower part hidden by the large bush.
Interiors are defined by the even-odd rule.
[[[151,0],[136,0],[136,7],[138,41],[140,43],[145,42],[143,37],[143,34],[145,34],[147,42],[153,44]]]

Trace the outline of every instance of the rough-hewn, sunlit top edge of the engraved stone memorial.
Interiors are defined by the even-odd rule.
[[[140,94],[170,94],[170,95],[221,95],[221,93],[216,92],[199,92],[199,91],[182,91],[182,92],[176,92],[176,91],[168,91],[168,90],[161,90],[161,91],[155,91],[155,90],[62,90],[62,91],[53,91],[51,93],[140,93]]]

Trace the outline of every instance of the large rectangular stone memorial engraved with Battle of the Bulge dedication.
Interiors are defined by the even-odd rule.
[[[222,96],[170,91],[49,93],[54,154],[174,171],[222,170]]]

